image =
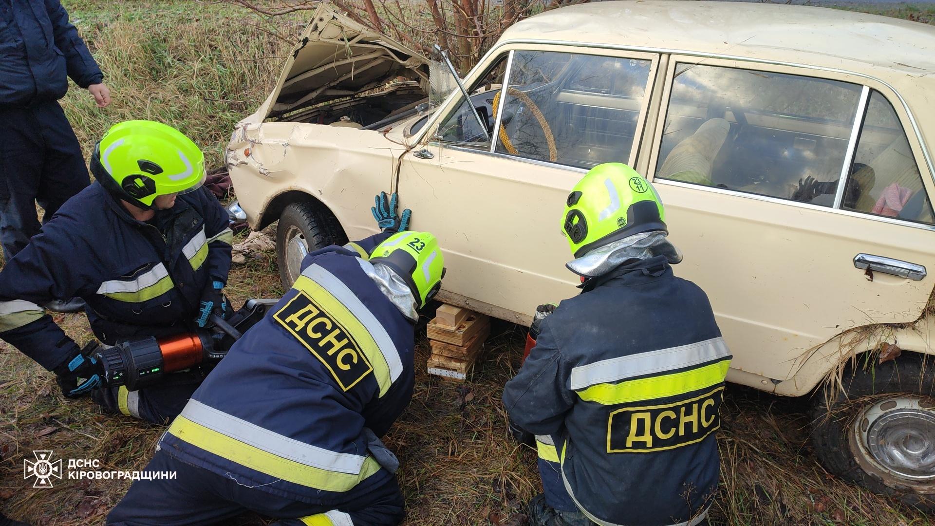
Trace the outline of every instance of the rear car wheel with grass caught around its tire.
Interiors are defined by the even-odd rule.
[[[857,368],[815,397],[813,445],[828,471],[935,510],[935,359],[906,355]]]

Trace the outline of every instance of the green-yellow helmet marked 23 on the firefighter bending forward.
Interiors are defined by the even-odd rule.
[[[419,309],[435,297],[445,277],[439,240],[428,232],[393,234],[373,249],[370,263],[382,263],[396,271],[410,285]]]

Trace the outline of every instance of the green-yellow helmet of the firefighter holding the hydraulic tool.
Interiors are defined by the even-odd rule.
[[[205,182],[205,155],[172,126],[152,121],[114,124],[94,146],[94,179],[141,209],[167,194],[184,194]]]

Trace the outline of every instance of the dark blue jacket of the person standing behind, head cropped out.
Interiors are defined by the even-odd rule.
[[[60,99],[66,74],[82,88],[104,79],[59,0],[0,0],[0,107]]]

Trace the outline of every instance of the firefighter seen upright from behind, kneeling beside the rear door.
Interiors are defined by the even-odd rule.
[[[543,494],[531,525],[705,523],[730,353],[705,293],[672,275],[653,185],[592,168],[568,194],[562,232],[582,292],[545,317],[504,388],[513,424],[536,435]]]

